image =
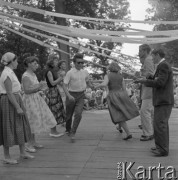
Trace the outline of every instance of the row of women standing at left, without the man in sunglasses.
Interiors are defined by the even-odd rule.
[[[12,159],[9,148],[19,145],[20,157],[33,159],[28,152],[36,152],[43,145],[36,142],[35,134],[51,130],[50,136],[60,137],[56,125],[66,121],[62,98],[57,89],[61,85],[68,99],[74,99],[63,84],[63,70],[56,68],[58,59],[54,56],[47,61],[46,82],[39,82],[35,71],[38,69],[38,58],[25,58],[26,71],[20,83],[14,73],[18,66],[18,57],[5,53],[1,58],[0,76],[0,145],[4,148],[4,163],[17,164]],[[47,87],[46,101],[41,94]],[[23,93],[22,93],[23,92]]]

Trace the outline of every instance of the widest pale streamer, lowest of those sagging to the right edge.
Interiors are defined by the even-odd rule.
[[[48,23],[44,23],[44,22],[39,22],[39,21],[35,21],[35,20],[30,20],[27,18],[21,18],[21,17],[17,17],[17,16],[13,16],[13,15],[9,15],[9,14],[5,14],[0,12],[1,15],[3,16],[7,16],[10,18],[14,18],[14,19],[20,19],[22,21],[26,21],[29,23],[33,23],[36,24],[38,26],[43,26],[44,30],[50,30],[53,33],[58,34],[59,32],[61,34],[67,35],[67,36],[74,36],[74,37],[81,37],[81,38],[88,38],[88,39],[95,39],[95,40],[101,40],[101,41],[108,41],[108,42],[116,42],[116,43],[134,43],[134,44],[154,44],[154,43],[163,43],[163,42],[168,42],[168,41],[172,41],[172,40],[176,40],[178,39],[178,30],[174,30],[174,31],[167,31],[165,33],[169,33],[170,35],[172,35],[171,33],[174,33],[172,35],[172,37],[159,37],[159,38],[127,38],[127,37],[116,37],[116,36],[104,36],[104,35],[98,35],[98,34],[92,34],[92,33],[87,33],[87,30],[85,29],[75,29],[75,28],[70,28],[70,27],[66,27],[66,26],[60,26],[60,25],[54,25],[54,24],[48,24]],[[90,30],[88,30],[90,31]],[[94,30],[96,31],[96,30]],[[163,33],[164,31],[162,31]],[[133,33],[133,32],[129,32],[129,33]],[[137,32],[135,32],[137,33]],[[142,32],[145,33],[145,32]],[[152,32],[152,33],[156,33],[156,32]],[[160,31],[161,34],[161,31]]]

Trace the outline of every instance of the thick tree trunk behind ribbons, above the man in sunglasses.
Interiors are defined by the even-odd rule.
[[[64,1],[65,0],[54,0],[54,2],[55,2],[55,10],[56,10],[57,13],[65,13]],[[67,25],[66,19],[64,19],[64,18],[56,17],[55,20],[57,21],[57,24],[59,24],[59,25],[63,25],[63,26]],[[68,39],[65,39],[65,38],[61,38],[61,39],[65,40],[65,41],[68,41]],[[59,46],[59,48],[61,50],[69,53],[69,46],[68,45],[58,43],[58,46]],[[67,70],[69,70],[70,69],[70,57],[69,57],[69,55],[60,52],[60,57],[61,57],[62,60],[66,61]]]

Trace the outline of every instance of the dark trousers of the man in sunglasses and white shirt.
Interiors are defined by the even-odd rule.
[[[69,93],[75,98],[75,101],[69,101],[68,98],[66,99],[66,131],[70,131],[75,134],[82,119],[85,95],[84,92]],[[74,120],[72,124],[73,114]]]

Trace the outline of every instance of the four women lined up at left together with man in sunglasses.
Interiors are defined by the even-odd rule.
[[[18,57],[10,52],[2,56],[0,145],[4,148],[4,163],[18,163],[9,153],[13,145],[19,145],[21,158],[33,159],[34,156],[28,152],[43,148],[36,142],[35,134],[50,129],[51,137],[60,137],[64,133],[57,131],[58,124],[66,123],[66,133],[72,141],[75,140],[82,118],[85,90],[87,86],[93,85],[89,81],[88,72],[83,70],[83,54],[76,54],[73,63],[74,68],[66,74],[65,61],[59,62],[57,56],[50,55],[46,63],[46,81],[39,82],[35,75],[38,58],[29,56],[24,60],[26,71],[20,83],[13,71],[17,68]],[[65,103],[60,93],[65,93]]]

